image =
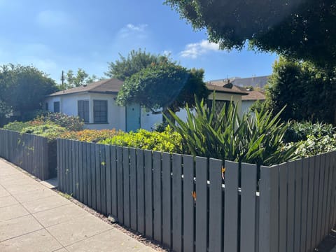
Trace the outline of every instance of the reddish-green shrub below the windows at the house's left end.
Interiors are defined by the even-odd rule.
[[[84,122],[78,116],[67,116],[64,113],[48,113],[44,116],[39,116],[36,120],[41,120],[45,123],[54,123],[69,131],[83,130]]]

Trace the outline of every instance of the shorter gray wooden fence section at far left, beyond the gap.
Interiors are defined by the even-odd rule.
[[[45,137],[0,130],[0,157],[45,180],[57,176],[56,143]]]

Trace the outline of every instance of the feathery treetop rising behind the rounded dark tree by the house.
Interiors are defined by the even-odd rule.
[[[119,80],[125,80],[127,77],[132,76],[134,73],[146,69],[151,64],[159,64],[160,62],[167,61],[166,56],[153,55],[146,50],[132,50],[127,58],[119,54],[120,59],[116,62],[109,62],[109,70],[105,75],[109,78],[118,78]]]

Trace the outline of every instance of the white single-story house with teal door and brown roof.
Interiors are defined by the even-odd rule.
[[[162,123],[161,114],[153,114],[140,107],[118,106],[116,97],[123,81],[112,78],[100,80],[89,85],[73,87],[49,94],[45,99],[45,109],[51,112],[61,112],[69,116],[83,118],[87,129],[112,129],[130,132],[143,128],[152,130],[155,123]],[[216,91],[216,107],[233,101],[237,103],[239,113],[242,108],[242,97],[248,95],[245,90],[227,83],[207,83],[209,90]],[[208,105],[211,105],[213,95],[209,95]],[[186,118],[186,110],[176,113],[180,118]]]

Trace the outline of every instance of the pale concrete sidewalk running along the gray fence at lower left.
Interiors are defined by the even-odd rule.
[[[0,251],[154,251],[0,159]]]

